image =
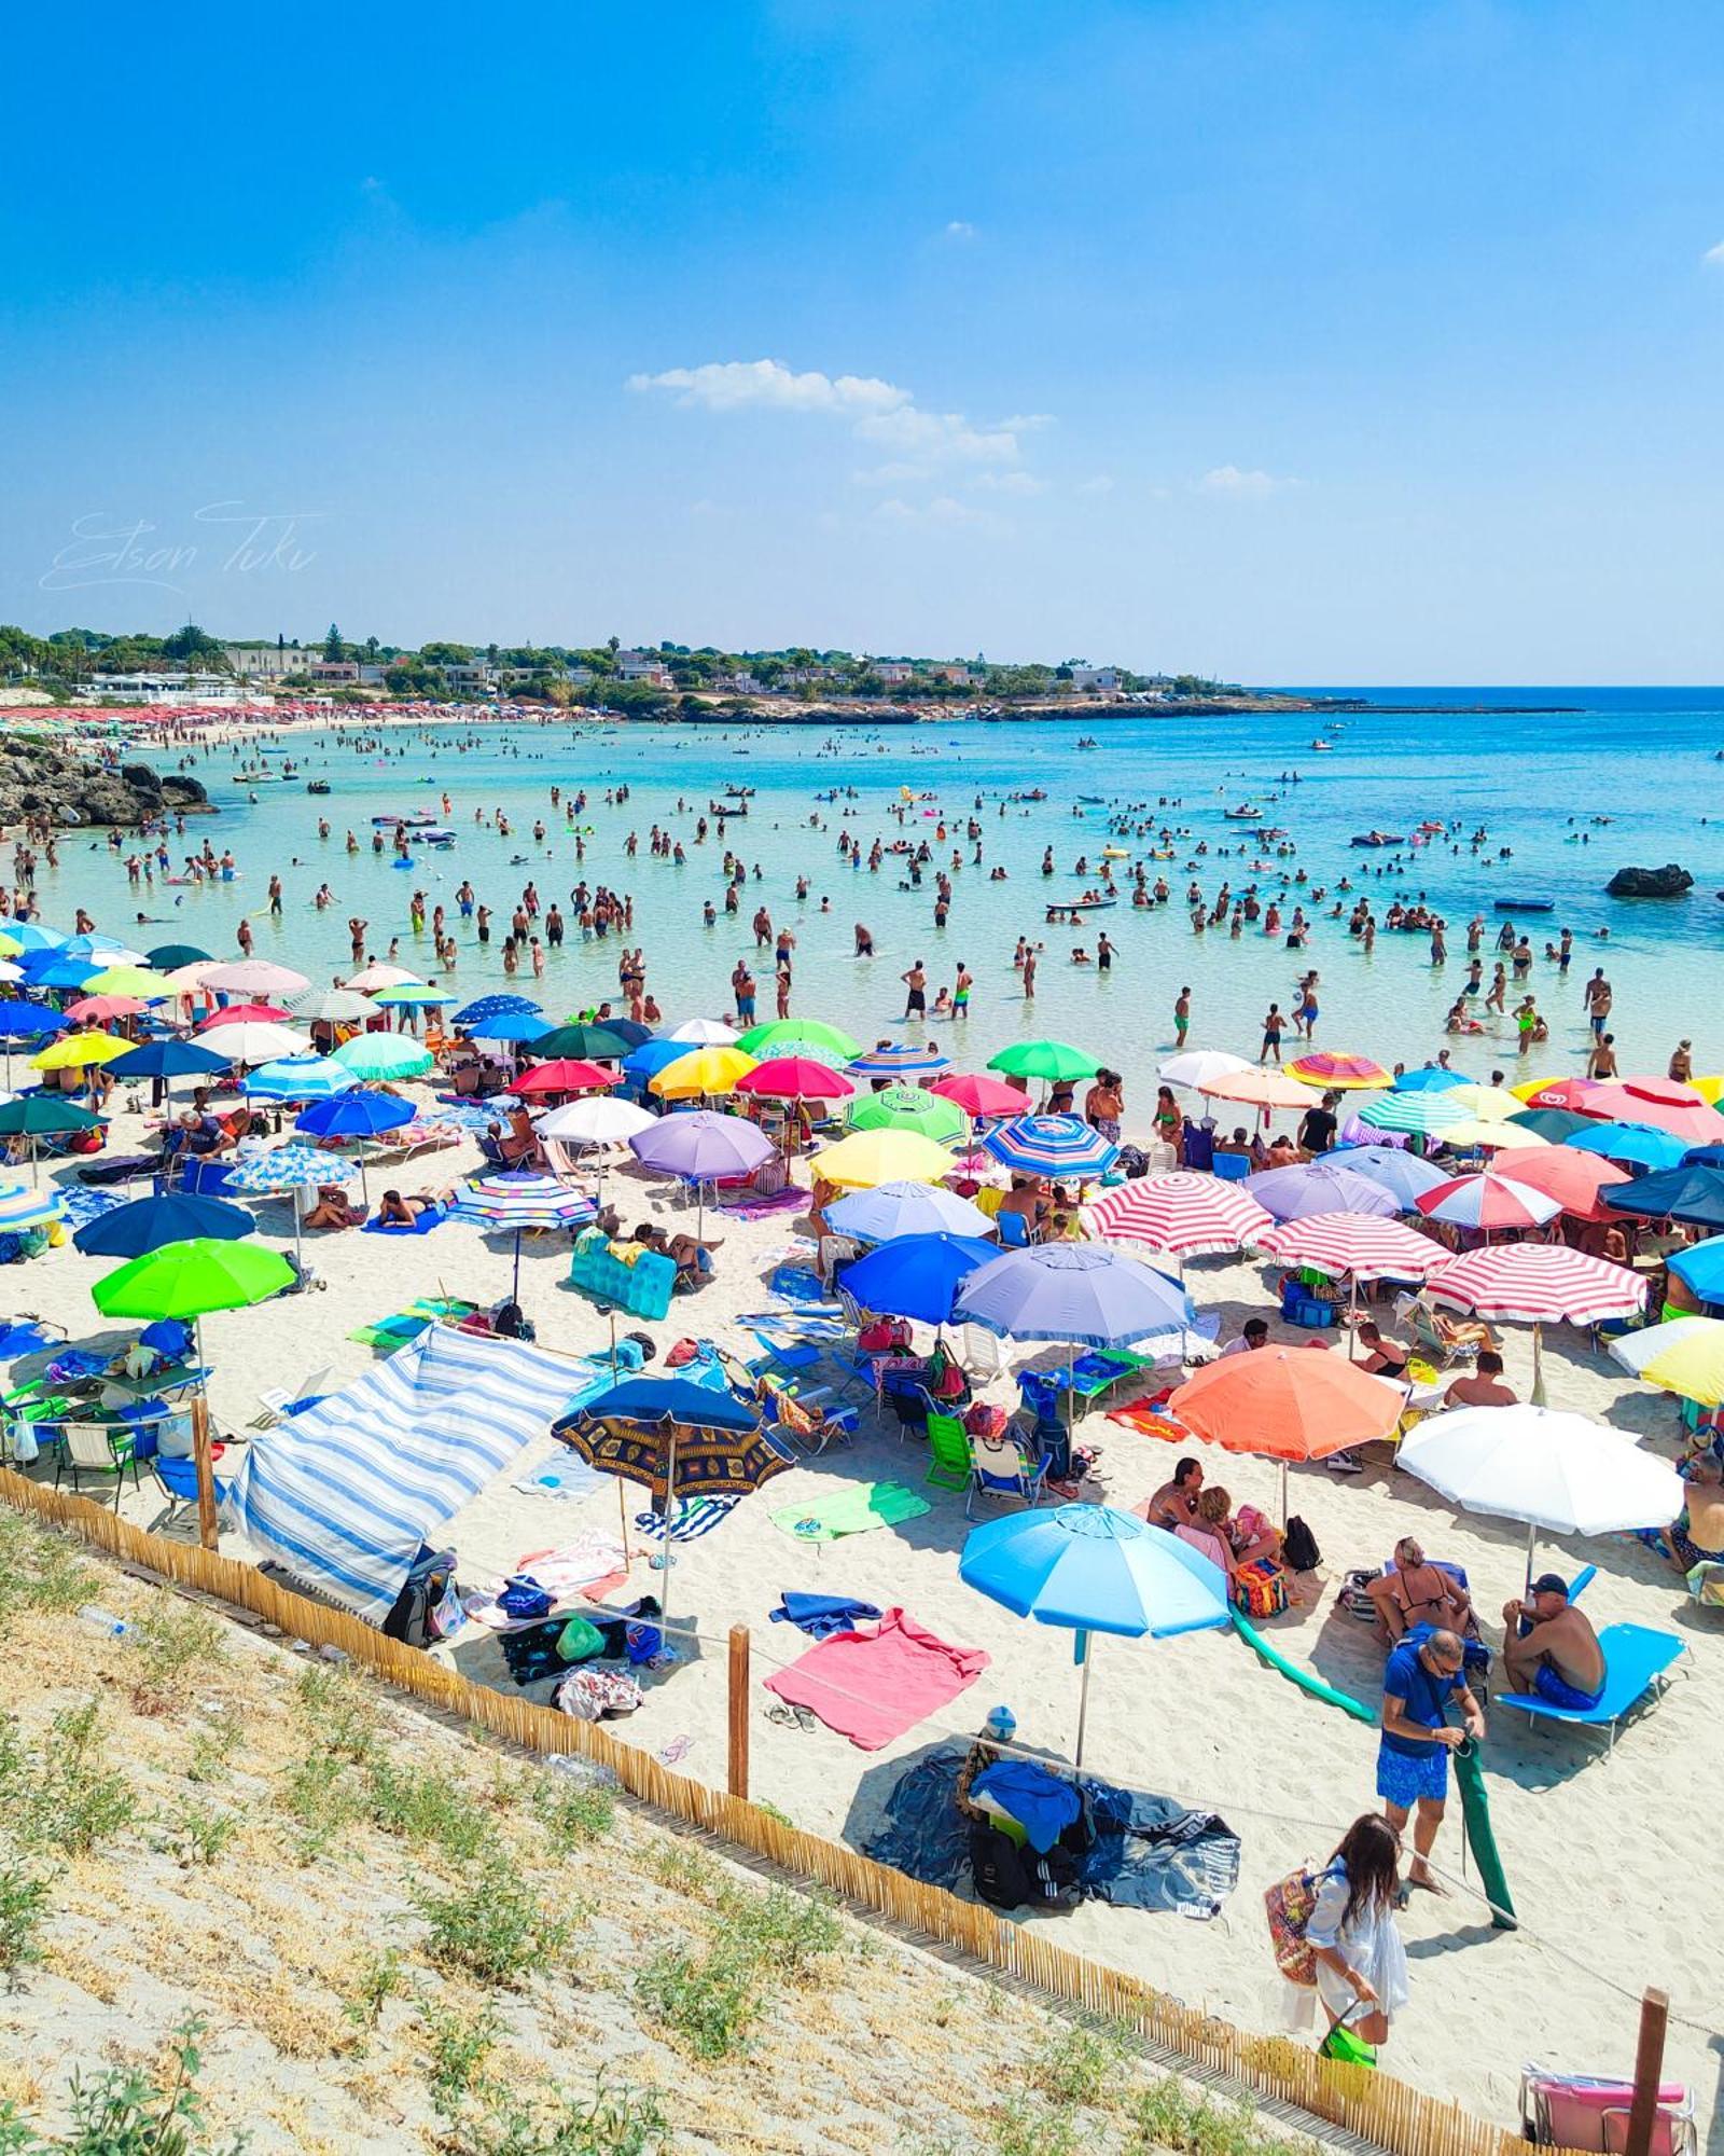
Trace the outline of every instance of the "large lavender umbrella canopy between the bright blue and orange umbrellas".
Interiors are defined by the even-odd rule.
[[[1006,1250],[972,1272],[957,1317],[1002,1339],[1127,1348],[1196,1326],[1192,1298],[1142,1259],[1101,1244],[1047,1242]]]

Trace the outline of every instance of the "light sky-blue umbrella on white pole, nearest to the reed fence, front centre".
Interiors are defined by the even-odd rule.
[[[1090,1703],[1090,1634],[1174,1639],[1233,1621],[1226,1574],[1202,1552],[1110,1505],[1056,1505],[987,1520],[970,1531],[957,1576],[1019,1617],[1075,1634],[1078,1742]]]

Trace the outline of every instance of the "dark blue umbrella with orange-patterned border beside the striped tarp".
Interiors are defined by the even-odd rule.
[[[690,1496],[746,1496],[793,1466],[789,1447],[771,1436],[752,1401],[690,1378],[625,1378],[552,1423],[552,1436],[601,1475],[642,1483],[664,1518],[662,1626],[670,1611],[672,1505]]]

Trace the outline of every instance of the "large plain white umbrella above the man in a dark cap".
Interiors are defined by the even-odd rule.
[[[1584,1414],[1517,1404],[1450,1408],[1407,1432],[1394,1464],[1463,1511],[1526,1524],[1526,1576],[1539,1533],[1618,1535],[1668,1526],[1683,1509],[1677,1470]]]

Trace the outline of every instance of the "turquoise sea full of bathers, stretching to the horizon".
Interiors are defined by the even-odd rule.
[[[500,916],[489,951],[476,946],[472,925],[457,929],[461,957],[448,985],[470,996],[502,983],[500,936],[526,880],[569,912],[569,890],[584,875],[634,895],[634,931],[582,942],[571,929],[541,983],[547,1011],[560,1018],[612,994],[618,949],[629,942],[644,946],[649,985],[666,1020],[675,1022],[726,1007],[731,968],[743,953],[754,959],[750,918],[765,903],[774,923],[789,921],[797,936],[795,1013],[838,1020],[862,1039],[896,1035],[903,1031],[899,975],[912,959],[927,959],[929,1000],[963,959],[976,975],[972,1018],[957,1037],[968,1065],[981,1065],[1009,1039],[1056,1035],[1112,1059],[1127,1076],[1129,1102],[1146,1110],[1142,1089],[1157,1056],[1170,1048],[1172,1000],[1183,983],[1194,992],[1194,1046],[1256,1054],[1269,998],[1291,1009],[1295,977],[1306,966],[1321,975],[1319,1046],[1360,1050],[1386,1063],[1418,1063],[1450,1046],[1455,1063],[1478,1074],[1513,1061],[1515,1035],[1506,1020],[1491,1020],[1485,1037],[1457,1041],[1444,1039],[1442,1020],[1465,979],[1468,918],[1487,914],[1489,957],[1498,927],[1493,901],[1543,897],[1554,910],[1528,923],[1534,949],[1543,953],[1545,940],[1567,925],[1575,934],[1575,959],[1567,981],[1543,955],[1534,966],[1530,985],[1552,1037],[1526,1074],[1580,1069],[1586,1041],[1580,990],[1599,962],[1616,990],[1612,1031],[1623,1072],[1662,1072],[1679,1035],[1694,1041],[1696,1072],[1724,1069],[1724,1011],[1718,1007],[1724,903],[1715,895],[1724,886],[1724,761],[1715,757],[1724,748],[1724,690],[1330,688],[1323,694],[1489,709],[1349,714],[1330,752],[1312,750],[1323,729],[1310,714],[935,722],[843,733],[558,718],[543,727],[394,729],[381,735],[381,748],[358,748],[356,727],[295,733],[300,774],[291,783],[252,785],[246,765],[280,761],[261,755],[259,744],[215,746],[190,763],[209,785],[220,821],[187,826],[179,852],[209,832],[218,852],[226,845],[237,856],[237,882],[215,888],[157,882],[153,890],[134,893],[106,845],[71,841],[58,871],[43,877],[43,908],[50,921],[69,921],[71,908],[84,901],[103,929],[127,934],[140,946],[175,938],[215,953],[235,949],[239,916],[252,914],[259,955],[280,957],[319,981],[351,970],[347,916],[360,914],[371,923],[373,953],[381,957],[399,936],[399,962],[429,975],[429,938],[416,942],[409,934],[409,893],[422,888],[453,921],[455,888],[468,877]],[[1506,705],[1573,709],[1513,714]],[[1084,735],[1099,746],[1080,748]],[[332,793],[308,796],[308,778],[328,778]],[[588,793],[580,865],[573,837],[552,811],[552,785],[565,796],[582,787]],[[608,806],[603,793],[618,785],[629,787],[629,798]],[[750,871],[743,910],[728,918],[720,912],[715,927],[703,927],[703,901],[722,903],[724,845],[715,830],[696,845],[696,817],[722,789],[739,785],[754,789],[748,817],[728,826],[728,845]],[[853,787],[856,798],[817,804],[815,796],[834,787]],[[903,787],[918,796],[909,806]],[[1037,787],[1047,796],[1043,802],[1011,800]],[[388,854],[371,854],[373,817],[412,808],[440,813],[444,791],[453,804],[448,824],[459,832],[453,849],[416,847],[412,873],[392,869]],[[1261,806],[1263,826],[1284,828],[1297,852],[1276,858],[1252,826],[1228,821],[1222,811],[1241,802]],[[1114,837],[1110,815],[1127,806],[1131,834]],[[511,837],[491,821],[474,821],[476,811],[487,819],[504,811]],[[810,826],[812,815],[823,828]],[[942,815],[948,837],[937,843]],[[983,867],[972,865],[972,845],[963,839],[970,815],[983,824]],[[332,826],[328,841],[317,834],[319,817]],[[532,841],[534,817],[547,826],[543,843]],[[1593,821],[1603,817],[1608,821]],[[1422,849],[1371,854],[1349,847],[1353,832],[1412,834],[1424,819],[1459,830]],[[683,841],[685,867],[651,858],[653,824]],[[1153,841],[1136,834],[1144,824],[1177,830],[1174,858],[1151,862],[1151,875],[1168,877],[1172,903],[1149,912],[1131,908],[1129,862],[1118,862],[1121,903],[1114,910],[1093,914],[1078,931],[1047,927],[1047,899],[1078,897],[1088,882],[1073,873],[1075,860],[1095,862],[1110,839],[1134,858],[1146,854]],[[362,847],[356,856],[345,852],[349,828]],[[1489,832],[1478,854],[1465,845],[1474,828]],[[849,867],[836,852],[840,830],[860,839],[864,856],[877,834],[888,845],[927,837],[935,862],[922,888],[905,886],[903,856],[888,854],[877,873]],[[629,832],[640,843],[631,860],[625,854]],[[935,929],[933,867],[950,865],[955,845],[963,867],[955,875],[950,921]],[[1058,873],[1043,877],[1049,845]],[[1198,845],[1207,852],[1198,854]],[[1500,847],[1508,858],[1498,860]],[[1254,871],[1259,858],[1265,867]],[[1668,860],[1694,873],[1687,899],[1636,903],[1603,895],[1616,867]],[[989,880],[996,862],[1009,871],[1006,882]],[[1207,893],[1222,875],[1235,893],[1254,882],[1267,899],[1297,869],[1308,884],[1330,890],[1323,908],[1308,906],[1317,927],[1304,953],[1287,951],[1280,936],[1271,940],[1261,927],[1239,940],[1213,929],[1202,938],[1192,934],[1183,895],[1194,877]],[[261,914],[272,871],[287,886],[280,921]],[[810,880],[802,903],[795,899],[800,873]],[[1379,931],[1375,953],[1366,955],[1343,921],[1325,918],[1343,875],[1371,893],[1379,923],[1396,895],[1422,895],[1448,921],[1448,964],[1429,964],[1424,934]],[[336,903],[319,914],[312,895],[325,880]],[[830,910],[821,910],[821,899]],[[149,927],[134,925],[138,910],[153,916]],[[873,959],[851,955],[858,921],[873,929]],[[1093,951],[1099,927],[1118,951],[1110,975],[1073,966],[1069,957],[1073,944]],[[1608,942],[1597,929],[1610,931]],[[1045,946],[1032,1005],[1011,964],[1019,936]],[[756,970],[761,1015],[771,1015],[771,966]],[[515,985],[528,992],[530,972],[524,970]]]

